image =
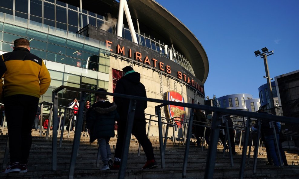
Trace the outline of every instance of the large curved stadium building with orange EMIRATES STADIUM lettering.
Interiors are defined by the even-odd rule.
[[[52,90],[61,85],[113,92],[122,68],[132,66],[141,74],[147,97],[181,95],[177,100],[204,104],[205,50],[156,1],[0,0],[1,54],[11,52],[18,38],[30,41],[31,53],[44,59],[50,72],[50,88],[40,101],[51,102]],[[61,91],[59,104],[79,96]],[[92,94],[88,98],[94,102]],[[146,113],[155,114],[155,105],[150,103]],[[167,110],[164,117],[172,115]]]

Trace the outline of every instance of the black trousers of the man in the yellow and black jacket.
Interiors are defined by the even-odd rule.
[[[24,94],[4,98],[11,163],[27,164],[28,162],[32,143],[31,128],[38,100],[38,97]]]

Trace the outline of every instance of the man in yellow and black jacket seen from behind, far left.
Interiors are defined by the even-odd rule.
[[[14,41],[14,50],[1,56],[0,97],[7,120],[10,165],[3,173],[27,172],[31,148],[31,128],[38,101],[51,82],[48,69],[38,56],[30,53],[29,41]],[[4,82],[4,83],[2,83]]]

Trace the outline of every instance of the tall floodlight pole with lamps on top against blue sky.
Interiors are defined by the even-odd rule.
[[[274,53],[274,51],[270,51],[267,49],[267,47],[264,47],[261,49],[262,53],[257,50],[255,51],[255,56],[260,56],[262,59],[264,59],[264,65],[265,65],[265,71],[266,71],[266,76],[264,76],[264,78],[267,78],[267,83],[268,83],[268,89],[269,89],[269,98],[270,98],[270,105],[269,108],[274,108],[274,100],[273,100],[273,95],[272,95],[272,87],[271,87],[271,80],[273,78],[270,78],[270,74],[269,74],[269,68],[268,68],[268,61],[267,61],[267,56],[272,55]]]

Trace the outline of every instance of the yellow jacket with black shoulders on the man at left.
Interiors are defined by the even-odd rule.
[[[5,66],[1,65],[0,72],[5,68],[6,71],[2,76],[4,80],[0,79],[0,97],[25,94],[39,98],[47,91],[51,82],[49,71],[43,60],[27,48],[17,47],[3,54],[1,59]]]

